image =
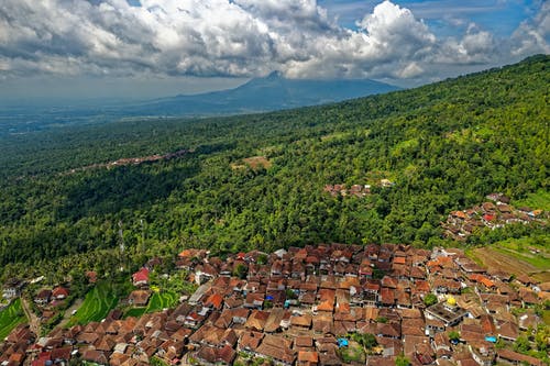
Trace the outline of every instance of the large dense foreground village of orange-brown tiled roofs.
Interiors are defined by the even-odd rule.
[[[536,347],[539,329],[548,337],[537,309],[550,282],[482,268],[462,249],[319,244],[222,259],[187,248],[174,260],[196,284],[175,308],[114,309],[47,335],[22,323],[0,344],[0,365],[544,365],[514,350]],[[158,264],[129,278],[127,302],[147,304]],[[20,291],[11,281],[3,295]],[[68,291],[42,289],[34,302]]]

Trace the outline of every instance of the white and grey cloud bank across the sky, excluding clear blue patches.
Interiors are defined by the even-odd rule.
[[[514,34],[513,52],[549,52],[549,8]],[[191,75],[428,78],[441,65],[494,63],[487,31],[438,38],[386,0],[345,29],[316,0],[3,0],[0,77]]]

